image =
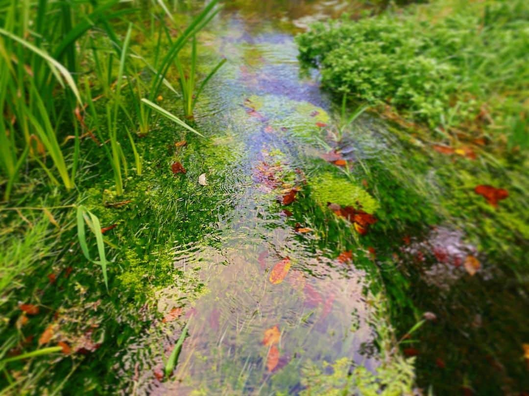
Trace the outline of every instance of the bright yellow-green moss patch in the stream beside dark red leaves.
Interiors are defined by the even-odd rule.
[[[378,202],[362,187],[351,183],[346,177],[334,175],[331,172],[322,173],[309,182],[312,197],[321,205],[327,202],[342,206],[362,206],[368,213],[375,213]]]

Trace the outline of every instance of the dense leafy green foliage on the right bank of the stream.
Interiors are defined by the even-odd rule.
[[[332,91],[388,103],[408,119],[445,129],[475,130],[485,109],[521,145],[527,143],[521,112],[527,111],[528,14],[522,0],[437,1],[317,23],[297,43],[300,58],[321,69]]]

